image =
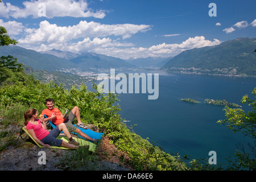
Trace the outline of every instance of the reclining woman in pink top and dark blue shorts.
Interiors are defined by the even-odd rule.
[[[77,143],[69,133],[65,124],[61,124],[55,127],[51,131],[46,130],[46,123],[43,121],[43,117],[38,119],[38,111],[36,109],[30,109],[24,113],[25,122],[24,125],[27,127],[28,133],[43,147],[65,147],[65,148],[78,148],[79,143]],[[64,142],[61,139],[56,139],[59,136],[60,131],[68,137],[69,142]]]

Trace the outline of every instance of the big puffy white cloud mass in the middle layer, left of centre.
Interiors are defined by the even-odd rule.
[[[121,42],[119,38],[113,40],[108,36],[122,36],[123,39],[150,30],[148,25],[136,24],[101,24],[81,21],[68,27],[51,24],[47,20],[40,22],[39,28],[24,28],[27,35],[18,40],[19,46],[47,51],[55,48],[62,51],[102,51],[108,48],[133,47],[133,43]],[[79,39],[81,39],[79,41]],[[106,54],[106,52],[104,53]]]

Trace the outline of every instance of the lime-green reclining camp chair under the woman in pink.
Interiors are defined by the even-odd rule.
[[[28,133],[26,126],[22,127],[22,130],[26,132],[26,134],[40,147],[40,148],[44,148],[43,146],[41,146],[38,142],[35,141],[35,139]],[[58,136],[57,139],[61,139],[64,140],[64,142],[68,143],[68,138],[65,136]],[[81,139],[81,138],[73,138],[76,140],[76,142],[80,143],[79,146],[86,146],[89,145],[89,151],[95,152],[96,150],[96,144],[92,143],[92,142],[88,142],[87,140]],[[69,150],[69,148],[65,148],[65,147],[57,147],[57,146],[51,146],[51,148],[59,148],[59,149],[64,149],[64,150]]]

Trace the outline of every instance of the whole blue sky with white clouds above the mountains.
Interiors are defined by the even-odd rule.
[[[3,0],[0,26],[18,46],[35,51],[171,57],[191,48],[255,38],[255,9],[255,0]]]

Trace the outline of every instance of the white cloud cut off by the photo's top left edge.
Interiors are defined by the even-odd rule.
[[[105,11],[98,10],[94,12],[88,8],[88,3],[79,0],[38,0],[25,1],[24,7],[13,6],[11,3],[0,3],[0,15],[6,18],[12,16],[13,18],[39,18],[42,10],[46,13],[44,16],[53,18],[55,16],[72,16],[72,17],[94,17],[104,18]],[[45,9],[44,9],[45,7]]]

